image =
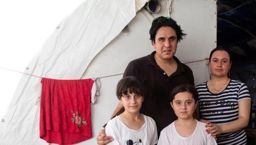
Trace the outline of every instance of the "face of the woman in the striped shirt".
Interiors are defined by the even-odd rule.
[[[232,62],[226,51],[215,51],[210,60],[210,71],[212,75],[227,76]]]

